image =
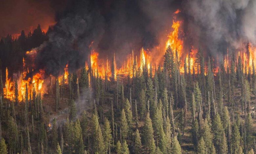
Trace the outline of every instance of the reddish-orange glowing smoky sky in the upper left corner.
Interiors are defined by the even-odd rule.
[[[55,24],[55,13],[63,10],[65,0],[1,0],[0,38],[8,33],[16,36],[21,30],[25,33],[37,27],[44,31]]]

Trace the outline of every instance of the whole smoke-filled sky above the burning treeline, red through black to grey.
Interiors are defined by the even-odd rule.
[[[4,0],[0,36],[37,24],[56,25],[49,41],[36,50],[38,68],[58,74],[67,63],[84,65],[92,48],[117,55],[117,65],[132,49],[154,49],[171,30],[173,12],[181,10],[185,49],[193,45],[216,56],[256,42],[256,0]],[[65,9],[64,9],[65,8]],[[186,47],[188,46],[188,47]],[[109,57],[111,59],[111,57]]]

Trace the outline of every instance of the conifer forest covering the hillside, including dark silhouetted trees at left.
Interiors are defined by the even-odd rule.
[[[47,39],[40,26],[3,38],[1,67],[21,70],[25,52]],[[4,97],[1,73],[0,153],[254,154],[254,63],[244,66],[233,53],[230,65],[217,67],[199,50],[193,68],[181,66],[170,47],[163,61],[149,69],[135,61],[129,75],[116,75],[112,63],[111,77],[81,68],[67,83],[52,77],[43,96],[26,86],[22,101],[17,82],[14,99]]]

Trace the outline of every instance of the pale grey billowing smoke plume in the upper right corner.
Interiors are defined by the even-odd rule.
[[[183,2],[188,35],[210,54],[226,53],[256,42],[255,0],[188,0]]]

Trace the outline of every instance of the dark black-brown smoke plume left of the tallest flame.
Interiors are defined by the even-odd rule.
[[[158,35],[171,25],[173,4],[169,0],[72,1],[57,15],[49,41],[35,49],[36,70],[59,75],[68,63],[74,71],[84,66],[92,48],[110,60],[115,52],[118,65],[132,49],[158,45]]]

